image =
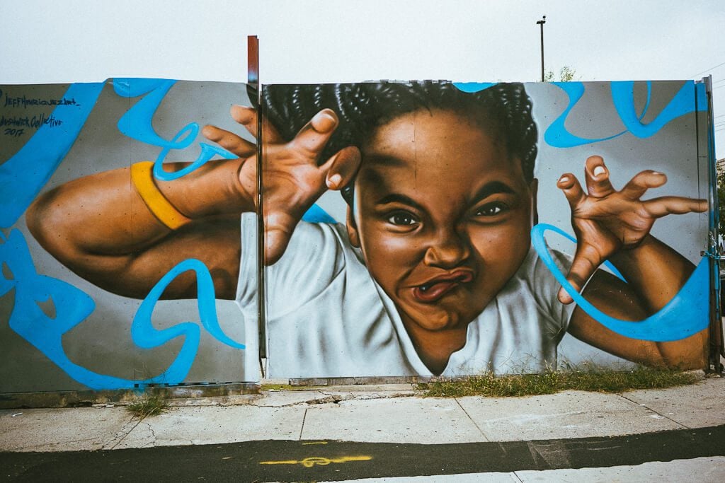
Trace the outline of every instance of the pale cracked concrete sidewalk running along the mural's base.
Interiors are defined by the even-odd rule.
[[[0,451],[120,450],[257,440],[434,445],[648,434],[724,425],[725,378],[621,394],[422,398],[410,385],[357,385],[172,403],[167,412],[142,421],[123,406],[2,410]],[[713,464],[719,468],[712,481],[725,476],[725,458],[698,459],[708,471]]]

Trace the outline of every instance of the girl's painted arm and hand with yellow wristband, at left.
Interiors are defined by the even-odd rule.
[[[253,109],[234,106],[232,117],[256,137]],[[337,125],[320,112],[288,143],[265,123],[267,259],[282,255],[302,214],[328,188],[352,179],[357,148],[345,148],[322,166],[320,152]],[[138,196],[130,169],[67,182],[38,197],[26,214],[28,228],[49,253],[80,277],[119,295],[143,298],[169,269],[189,258],[204,262],[219,298],[233,299],[239,275],[239,215],[257,199],[256,147],[239,135],[207,126],[204,135],[239,159],[209,161],[173,181],[154,180],[160,193],[191,222],[170,230]],[[177,171],[186,164],[165,164]],[[178,277],[165,298],[196,296],[194,274]]]

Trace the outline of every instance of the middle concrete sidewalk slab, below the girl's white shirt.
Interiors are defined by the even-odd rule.
[[[310,406],[303,440],[447,443],[487,441],[455,399],[347,400]]]

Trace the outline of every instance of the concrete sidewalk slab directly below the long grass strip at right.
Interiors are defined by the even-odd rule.
[[[567,391],[526,398],[459,398],[491,441],[614,436],[682,429],[616,394]]]

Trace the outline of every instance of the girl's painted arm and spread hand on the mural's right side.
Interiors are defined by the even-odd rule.
[[[617,191],[600,156],[587,159],[585,180],[587,193],[571,173],[558,181],[571,206],[577,238],[567,280],[576,290],[586,284],[584,296],[610,316],[632,321],[645,319],[663,308],[695,269],[682,255],[650,235],[655,220],[668,214],[706,211],[707,202],[678,196],[642,201],[640,198],[648,189],[667,181],[665,175],[654,171],[640,172]],[[597,270],[605,260],[616,266],[627,283]],[[559,300],[572,302],[563,288]],[[640,364],[679,368],[704,364],[707,331],[667,343],[634,340],[607,329],[577,307],[569,332],[597,348]]]

